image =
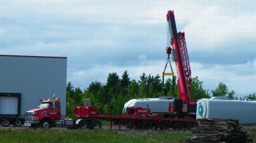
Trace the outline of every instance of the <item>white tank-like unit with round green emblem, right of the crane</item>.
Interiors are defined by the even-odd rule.
[[[232,118],[240,124],[256,124],[256,101],[212,97],[197,101],[197,119]]]

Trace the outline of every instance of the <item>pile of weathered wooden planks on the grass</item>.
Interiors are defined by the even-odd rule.
[[[198,127],[192,129],[195,136],[187,137],[186,143],[250,143],[252,139],[242,129],[237,119],[198,119]]]

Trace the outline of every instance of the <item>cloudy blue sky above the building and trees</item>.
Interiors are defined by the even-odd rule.
[[[161,76],[168,10],[204,89],[256,92],[255,0],[0,0],[0,54],[67,57],[67,82],[82,90],[113,72]]]

